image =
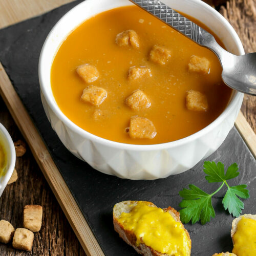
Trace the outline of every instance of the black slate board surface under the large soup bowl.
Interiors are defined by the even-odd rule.
[[[152,201],[159,207],[173,206],[179,209],[179,190],[195,184],[208,191],[204,181],[203,162],[193,169],[166,179],[131,181],[101,174],[74,157],[62,145],[51,129],[39,96],[38,58],[44,40],[57,20],[80,1],[62,6],[47,14],[26,20],[0,30],[0,61],[8,73],[15,90],[24,102],[38,131],[66,180],[84,217],[91,226],[106,255],[136,255],[113,230],[112,208],[123,200]],[[219,150],[207,160],[222,161],[227,167],[237,162],[240,176],[231,185],[247,184],[250,199],[245,202],[243,213],[256,214],[256,161],[238,131],[233,128]],[[202,183],[202,184],[201,184]],[[211,184],[214,189],[218,184]],[[210,191],[208,191],[210,192]],[[210,223],[185,225],[192,240],[191,255],[206,256],[215,252],[231,251],[230,228],[232,217],[223,210],[220,192],[212,203],[216,218]]]

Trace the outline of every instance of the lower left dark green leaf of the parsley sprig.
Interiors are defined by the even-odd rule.
[[[210,217],[215,217],[215,211],[211,204],[211,195],[205,193],[195,185],[189,185],[189,189],[180,191],[180,196],[184,198],[180,203],[180,217],[182,222],[188,223],[190,220],[195,224],[201,219],[204,225],[210,221]]]

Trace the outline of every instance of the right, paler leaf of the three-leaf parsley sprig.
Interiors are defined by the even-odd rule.
[[[249,191],[245,189],[246,185],[238,185],[230,187],[228,186],[227,193],[222,200],[223,206],[228,209],[229,214],[232,214],[233,217],[239,217],[242,209],[244,209],[244,203],[237,197],[249,198]]]

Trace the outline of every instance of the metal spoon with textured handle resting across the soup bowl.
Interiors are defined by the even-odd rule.
[[[214,52],[222,65],[222,80],[230,88],[256,95],[256,53],[241,56],[224,50],[214,36],[160,1],[130,0],[167,25]]]

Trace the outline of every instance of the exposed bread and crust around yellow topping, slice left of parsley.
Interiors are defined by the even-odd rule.
[[[114,223],[114,229],[116,232],[118,232],[119,236],[129,245],[131,245],[138,253],[145,255],[145,256],[174,256],[174,255],[170,255],[170,254],[165,254],[165,253],[161,253],[158,252],[154,249],[152,249],[150,246],[145,245],[143,242],[140,243],[139,246],[136,246],[136,236],[133,233],[133,231],[130,230],[125,230],[122,226],[122,224],[120,222],[118,222],[118,218],[120,217],[120,215],[122,214],[122,212],[130,212],[134,206],[136,206],[138,203],[138,201],[123,201],[120,203],[117,203],[114,206],[113,209],[113,223]],[[155,204],[151,203],[151,202],[146,202],[144,201],[144,203],[147,206],[151,206],[151,207],[157,207]],[[182,224],[182,222],[180,221],[180,214],[177,210],[175,210],[172,207],[168,207],[163,209],[164,211],[169,212],[170,215],[172,215],[172,217],[174,218],[175,221],[180,222]],[[186,232],[187,238],[188,238],[188,242],[189,242],[189,252],[187,253],[186,256],[190,255],[190,250],[191,250],[191,240],[189,237],[189,233],[187,232],[187,230],[184,228],[183,224],[182,224],[183,229]]]

